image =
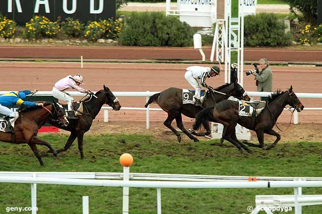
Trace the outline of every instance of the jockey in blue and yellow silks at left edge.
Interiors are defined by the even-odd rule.
[[[44,105],[43,103],[35,103],[35,102],[29,102],[29,101],[24,101],[26,99],[26,95],[31,94],[31,93],[36,93],[38,90],[35,89],[33,91],[30,90],[22,90],[22,91],[12,91],[10,93],[5,93],[0,96],[0,114],[7,115],[9,116],[9,121],[11,125],[13,125],[16,117],[16,114],[14,111],[9,109],[8,107],[13,106],[13,105],[26,105],[28,107],[33,107],[33,106],[42,106]],[[12,126],[13,127],[13,126]]]

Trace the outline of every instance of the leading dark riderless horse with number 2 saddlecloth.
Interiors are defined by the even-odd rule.
[[[223,138],[234,144],[239,150],[244,148],[251,153],[251,150],[243,145],[243,143],[249,146],[255,146],[268,150],[275,147],[277,142],[280,140],[279,133],[274,131],[272,128],[276,124],[277,118],[280,116],[286,105],[290,105],[294,108],[294,111],[297,110],[298,112],[304,109],[303,104],[293,92],[292,86],[286,91],[277,91],[273,93],[268,98],[265,109],[256,118],[239,116],[239,103],[232,100],[224,100],[213,107],[200,111],[196,118],[195,124],[193,125],[194,131],[191,133],[197,136],[204,136],[205,133],[196,132],[196,130],[201,127],[201,124],[203,124],[205,121],[216,122],[225,127],[226,131],[222,133]],[[243,143],[241,143],[239,140],[237,140],[235,132],[237,123],[243,127],[256,131],[260,144],[253,144],[247,141],[243,141]],[[276,136],[274,143],[269,146],[265,146],[264,133]]]

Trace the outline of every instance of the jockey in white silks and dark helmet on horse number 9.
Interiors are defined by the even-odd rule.
[[[218,66],[213,66],[211,68],[201,67],[201,66],[190,66],[187,68],[187,72],[184,74],[184,78],[196,90],[194,95],[196,100],[196,103],[195,103],[196,106],[201,105],[201,101],[200,101],[201,86],[207,87],[206,79],[210,77],[215,77],[219,75],[219,73],[220,73],[220,69]],[[200,80],[200,84],[198,80]]]

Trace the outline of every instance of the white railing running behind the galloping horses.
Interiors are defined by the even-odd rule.
[[[0,94],[8,93],[10,91],[0,91]],[[72,96],[85,96],[86,94],[77,92],[77,91],[66,91]],[[160,91],[115,91],[113,94],[115,96],[119,97],[146,97],[146,101],[149,100],[150,96],[152,96],[155,93],[159,93]],[[253,100],[254,97],[267,97],[272,92],[257,92],[257,91],[247,91],[247,94],[251,97]],[[322,98],[322,93],[295,93],[298,98]],[[52,96],[52,91],[38,91],[33,96]],[[142,104],[142,106],[144,106]],[[108,122],[108,110],[111,109],[110,107],[102,107],[104,110],[104,122]],[[133,107],[122,107],[121,110],[139,110],[139,111],[146,111],[146,128],[150,128],[150,111],[163,111],[161,108],[133,108]],[[286,110],[286,109],[284,109]],[[322,108],[304,108],[304,110],[322,110]],[[294,118],[293,123],[298,124],[299,118],[298,118],[298,112],[294,112]]]

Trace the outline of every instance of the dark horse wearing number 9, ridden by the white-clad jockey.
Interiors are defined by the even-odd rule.
[[[250,97],[245,93],[245,90],[242,86],[237,83],[235,80],[231,84],[224,84],[220,87],[208,88],[206,93],[206,97],[203,102],[203,107],[207,108],[210,106],[214,106],[216,103],[227,99],[229,96],[234,96],[239,99],[250,100]],[[156,93],[152,95],[145,105],[148,107],[152,102],[158,103],[163,111],[168,114],[167,119],[163,122],[164,126],[172,130],[177,136],[178,142],[181,141],[180,133],[171,126],[172,121],[175,119],[177,127],[180,128],[190,139],[195,142],[199,141],[196,137],[194,137],[188,130],[186,130],[182,123],[181,114],[189,117],[196,118],[199,111],[203,109],[203,107],[195,106],[194,104],[182,104],[182,89],[176,87],[170,87],[161,91],[160,93]],[[204,127],[207,132],[210,133],[210,127],[208,121],[203,122]]]

